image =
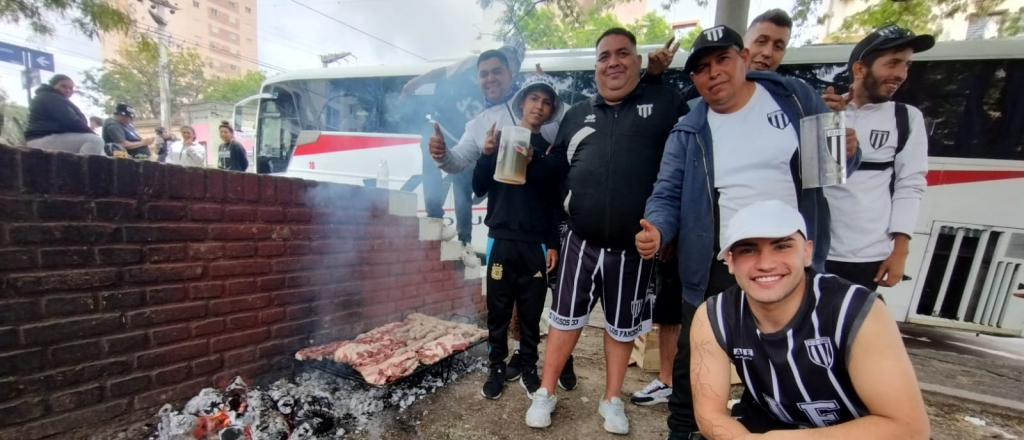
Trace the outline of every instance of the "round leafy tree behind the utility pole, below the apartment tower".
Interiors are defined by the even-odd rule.
[[[140,38],[118,51],[119,58],[106,59],[103,67],[86,71],[83,75],[83,95],[93,105],[114,112],[118,102],[128,102],[135,108],[137,118],[157,118],[160,115],[160,85],[158,83],[159,50],[157,42]],[[168,51],[170,71],[171,115],[182,105],[196,102],[206,84],[202,55],[194,49]]]

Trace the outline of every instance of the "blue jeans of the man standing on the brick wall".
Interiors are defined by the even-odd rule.
[[[430,157],[430,136],[434,134],[434,126],[426,124],[420,133],[420,151],[423,153],[423,206],[429,218],[444,218],[444,197],[449,185],[455,191],[455,220],[459,240],[470,243],[473,238],[473,169],[463,170],[459,174],[450,174],[441,179],[441,170],[437,169]],[[445,142],[458,142],[458,139],[444,139]]]

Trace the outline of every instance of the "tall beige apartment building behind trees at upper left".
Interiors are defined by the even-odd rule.
[[[138,32],[153,34],[156,29],[148,9],[150,0],[117,0],[131,10]],[[232,77],[257,69],[257,0],[179,0],[174,14],[168,14],[170,48],[197,50],[207,60],[207,77]],[[128,37],[105,36],[103,58],[117,58],[118,49]]]

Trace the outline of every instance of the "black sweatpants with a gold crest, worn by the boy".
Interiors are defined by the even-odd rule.
[[[548,294],[547,253],[539,243],[490,238],[487,241],[487,346],[490,367],[505,365],[512,306],[519,311],[519,356],[537,365],[541,313]],[[524,368],[525,370],[525,368]]]

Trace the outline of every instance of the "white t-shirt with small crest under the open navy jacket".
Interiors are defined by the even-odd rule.
[[[777,200],[799,209],[790,169],[799,142],[797,129],[771,94],[755,85],[754,96],[738,112],[723,115],[708,111],[715,188],[721,194],[718,208],[722,241],[732,216],[755,202]]]

